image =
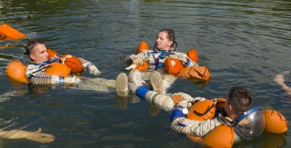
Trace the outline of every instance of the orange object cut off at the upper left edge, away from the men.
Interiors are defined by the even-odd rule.
[[[11,38],[11,39],[20,39],[25,37],[25,34],[19,32],[18,30],[10,27],[7,24],[0,25],[0,38]]]

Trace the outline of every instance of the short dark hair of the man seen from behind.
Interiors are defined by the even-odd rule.
[[[227,105],[232,105],[234,112],[240,116],[251,109],[252,97],[250,92],[241,86],[233,86],[227,95]]]

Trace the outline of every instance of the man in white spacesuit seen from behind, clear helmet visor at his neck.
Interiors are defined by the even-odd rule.
[[[264,130],[265,121],[262,108],[255,107],[251,109],[251,94],[241,86],[234,86],[229,90],[224,106],[221,105],[216,110],[216,116],[214,118],[193,120],[186,118],[188,109],[197,101],[206,100],[205,98],[192,98],[190,95],[181,92],[167,96],[151,91],[143,86],[140,72],[136,69],[130,71],[128,81],[129,92],[131,94],[136,94],[141,99],[161,109],[172,112],[171,128],[179,133],[204,137],[218,125],[227,124],[239,129],[235,130],[235,140],[250,140],[258,138]],[[182,100],[178,104],[175,104],[173,96],[177,94]],[[251,112],[249,112],[250,110]],[[255,114],[252,114],[254,112]]]

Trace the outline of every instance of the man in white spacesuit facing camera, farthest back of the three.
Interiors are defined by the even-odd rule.
[[[165,90],[170,88],[177,77],[175,75],[167,74],[164,72],[164,61],[166,58],[179,59],[184,67],[199,66],[197,62],[192,61],[185,53],[178,52],[178,48],[174,48],[176,43],[174,30],[163,28],[159,31],[158,38],[153,50],[144,50],[137,55],[129,55],[126,57],[128,63],[135,65],[144,64],[146,61],[149,64],[149,70],[156,70],[162,74],[162,81],[157,81],[157,74],[153,73],[149,76],[148,73],[143,73],[143,79],[151,79],[151,84],[147,84],[150,89],[165,94]],[[116,77],[116,92],[126,92],[127,76],[124,73],[119,74]],[[155,85],[163,84],[162,87],[156,87]]]

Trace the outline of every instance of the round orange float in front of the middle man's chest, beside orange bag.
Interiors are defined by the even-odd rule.
[[[164,62],[164,68],[168,74],[179,74],[184,66],[179,59],[167,58]]]

